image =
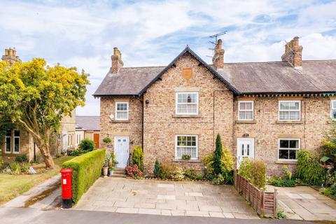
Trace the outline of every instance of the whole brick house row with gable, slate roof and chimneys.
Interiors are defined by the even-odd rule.
[[[218,133],[237,167],[250,157],[265,161],[268,174],[294,169],[297,151],[318,150],[336,118],[336,60],[302,61],[298,41],[280,62],[225,63],[218,40],[212,65],[187,46],[168,66],[124,68],[114,48],[94,93],[102,138],[113,139],[120,167],[142,146],[147,172],[157,158],[202,169]]]

